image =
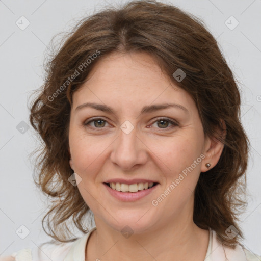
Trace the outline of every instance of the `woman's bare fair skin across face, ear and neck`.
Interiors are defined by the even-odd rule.
[[[205,258],[209,233],[193,222],[194,189],[200,172],[208,170],[205,164],[212,168],[218,163],[223,144],[204,138],[195,102],[174,81],[145,53],[112,54],[95,65],[73,94],[70,166],[82,178],[78,188],[97,227],[87,242],[86,261]],[[85,102],[110,106],[115,113],[90,107],[75,110]],[[178,103],[188,113],[168,108],[141,114],[143,106],[161,103]],[[106,122],[84,125],[93,117]],[[161,117],[178,125],[167,121],[162,126]],[[126,120],[134,126],[129,134],[120,128]],[[152,200],[201,154],[205,158],[153,206]],[[138,201],[121,202],[104,188],[102,182],[109,178],[145,178],[160,185]],[[129,238],[121,233],[126,225],[134,231]]]

